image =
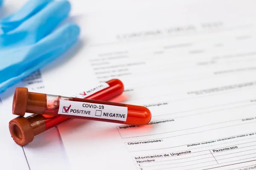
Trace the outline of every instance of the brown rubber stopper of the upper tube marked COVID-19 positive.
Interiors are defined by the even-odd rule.
[[[29,91],[28,88],[17,87],[14,92],[12,101],[12,114],[24,116],[28,105]]]

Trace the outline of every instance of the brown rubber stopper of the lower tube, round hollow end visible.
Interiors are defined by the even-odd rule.
[[[33,128],[25,117],[18,116],[12,119],[9,122],[9,130],[12,139],[20,146],[28,144],[34,139]]]

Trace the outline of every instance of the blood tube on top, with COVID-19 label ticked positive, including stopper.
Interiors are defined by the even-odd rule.
[[[76,97],[64,97],[28,92],[27,88],[16,88],[12,113],[47,114],[76,119],[89,119],[128,125],[145,125],[151,120],[148,108]]]

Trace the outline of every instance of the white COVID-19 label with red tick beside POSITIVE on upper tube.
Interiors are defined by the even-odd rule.
[[[58,114],[126,121],[128,108],[88,102],[60,100]]]

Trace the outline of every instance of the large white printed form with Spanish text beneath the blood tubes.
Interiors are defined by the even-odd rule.
[[[148,107],[152,120],[140,127],[63,123],[59,130],[73,169],[255,166],[253,4],[198,1],[168,10],[77,17],[84,46],[72,59],[43,70],[48,91],[69,96],[118,78],[125,103]]]

